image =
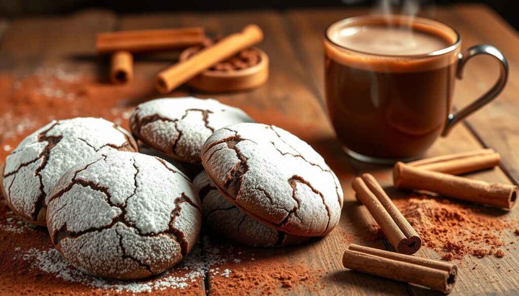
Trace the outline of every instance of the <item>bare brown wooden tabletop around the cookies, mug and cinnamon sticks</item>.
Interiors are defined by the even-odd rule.
[[[200,97],[215,97],[224,103],[241,107],[256,121],[278,125],[306,140],[322,154],[339,177],[345,192],[345,203],[342,218],[334,231],[323,239],[302,246],[255,251],[258,260],[277,256],[287,260],[303,261],[310,270],[321,273],[321,281],[325,286],[319,288],[317,292],[310,292],[304,287],[294,287],[293,289],[280,288],[276,293],[439,294],[425,288],[347,271],[342,267],[342,252],[347,244],[361,242],[359,233],[374,222],[366,209],[355,200],[350,184],[352,178],[363,172],[371,172],[383,187],[392,185],[390,167],[360,163],[343,153],[323,108],[324,29],[336,20],[366,12],[366,9],[344,8],[292,10],[283,13],[255,11],[118,16],[105,10],[87,10],[69,16],[0,20],[0,75],[5,79],[9,75],[18,75],[20,71],[30,73],[40,67],[64,64],[69,69],[99,77],[100,83],[106,83],[106,60],[95,58],[93,42],[95,33],[203,26],[209,34],[216,35],[237,32],[248,23],[256,23],[265,32],[265,40],[259,47],[270,57],[271,76],[265,86],[249,92],[218,95],[196,93],[181,88],[173,92],[172,96],[192,94]],[[501,154],[502,164],[494,170],[472,174],[469,177],[517,184],[519,180],[519,149],[516,148],[519,146],[519,101],[516,97],[519,93],[519,73],[516,71],[519,68],[517,32],[485,6],[442,7],[424,12],[424,16],[453,26],[462,36],[463,48],[480,43],[498,47],[508,58],[511,69],[508,85],[497,100],[456,126],[448,137],[439,139],[427,154],[436,156],[483,147],[494,148]],[[137,59],[134,73],[135,81],[140,81],[140,84],[135,86],[135,91],[131,94],[135,99],[134,102],[159,96],[151,88],[153,77],[173,61],[174,57],[167,54],[154,55],[152,59]],[[468,63],[465,70],[465,79],[458,81],[455,88],[455,109],[473,101],[476,96],[489,89],[498,73],[497,65],[486,57],[475,58]],[[0,97],[0,100],[4,98]],[[0,110],[0,114],[7,111]],[[90,111],[90,114],[102,116],[95,111]],[[8,143],[7,141],[6,139],[2,143],[0,137],[0,147]],[[11,144],[16,145],[16,143]],[[4,159],[0,160],[0,163],[2,162]],[[517,207],[506,214],[486,207],[480,208],[488,215],[519,218]],[[506,236],[503,239],[507,243],[518,242],[518,236],[512,232],[504,235]],[[6,257],[9,252],[5,250],[9,245],[8,238],[6,235],[2,237],[5,241],[0,241],[0,244],[3,244],[0,247],[0,256],[3,257],[0,260],[8,261],[10,258]],[[381,241],[369,244],[378,248],[388,247],[387,243]],[[422,248],[417,256],[439,258],[435,252],[427,248]],[[493,256],[482,259],[467,256],[464,261],[469,262],[465,264],[466,266],[477,264],[478,268],[475,270],[469,267],[461,268],[456,287],[451,295],[519,294],[519,250],[511,248],[507,251],[507,256],[502,259]],[[498,265],[501,268],[498,268]],[[20,267],[23,268],[30,267]],[[4,274],[8,272],[1,271]],[[9,276],[3,277],[6,281],[8,278]],[[206,290],[214,292],[218,289],[212,287],[211,283],[210,279],[202,280],[199,293],[204,294]],[[2,285],[0,285],[0,294],[2,294]],[[31,289],[38,288],[34,283],[25,283],[25,285],[30,286]],[[52,293],[52,291],[48,292]],[[175,291],[172,290],[171,294],[175,294]]]

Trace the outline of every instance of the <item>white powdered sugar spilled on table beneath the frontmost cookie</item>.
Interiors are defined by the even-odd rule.
[[[208,239],[204,237],[203,241],[208,242]],[[185,289],[197,281],[202,281],[206,275],[228,277],[232,271],[225,269],[221,273],[216,273],[216,271],[219,270],[217,266],[228,261],[233,262],[237,260],[229,256],[225,256],[224,258],[224,256],[220,255],[220,249],[217,247],[204,246],[202,249],[201,243],[198,242],[189,255],[178,265],[154,278],[139,281],[117,281],[95,277],[75,269],[56,249],[40,250],[31,248],[23,252],[18,248],[17,251],[18,253],[15,259],[21,257],[23,260],[30,262],[32,268],[52,274],[65,281],[85,285],[101,291],[127,291],[131,293],[151,293],[156,290]]]

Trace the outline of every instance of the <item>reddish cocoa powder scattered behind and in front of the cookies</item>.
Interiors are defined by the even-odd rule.
[[[135,77],[129,84],[114,86],[64,69],[44,68],[26,77],[1,76],[0,96],[1,166],[21,139],[52,119],[103,117],[128,129],[128,117],[134,106],[159,95],[155,93],[153,84],[142,77]],[[261,110],[248,111],[256,112],[258,117],[262,114]],[[348,241],[352,241],[352,238],[349,237]],[[121,287],[129,287],[129,290],[114,290],[117,283],[106,284],[110,288],[93,288],[89,286],[90,281],[101,287],[105,287],[105,282],[88,275],[85,275],[86,279],[83,275],[76,277],[77,270],[63,265],[58,269],[54,264],[56,262],[42,269],[38,259],[49,264],[45,260],[49,260],[50,255],[56,255],[48,231],[16,217],[6,206],[1,194],[0,242],[0,294],[133,295],[143,285],[130,281],[120,284]],[[207,242],[204,244],[208,245]],[[204,287],[203,276],[199,272],[193,273],[195,266],[188,263],[177,269],[173,267],[169,275],[151,279],[152,283],[159,285],[158,289],[152,290],[152,294],[204,295],[204,288],[214,295],[240,295],[251,291],[278,294],[300,289],[311,292],[324,288],[324,283],[320,281],[323,271],[311,271],[303,261],[271,257],[268,251],[261,250],[258,252],[263,255],[254,256],[251,255],[254,249],[240,246],[223,245],[221,248],[225,251],[219,256],[226,258],[227,262],[211,265],[211,270],[207,271],[210,274],[209,287]],[[209,249],[203,252],[205,264],[211,254]],[[50,260],[57,258],[51,257]],[[186,284],[185,287],[175,288],[174,283],[179,280],[176,277],[193,274],[197,276],[182,282]],[[169,283],[171,286],[163,283],[168,276],[175,277]],[[147,294],[146,291],[144,293]]]

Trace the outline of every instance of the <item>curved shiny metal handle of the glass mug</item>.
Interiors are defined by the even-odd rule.
[[[463,67],[465,64],[467,64],[467,61],[470,60],[472,57],[475,57],[479,54],[489,54],[492,57],[496,58],[499,63],[499,78],[496,81],[496,84],[487,91],[485,94],[480,96],[477,100],[470,103],[469,105],[465,106],[463,109],[459,110],[456,114],[449,114],[447,116],[447,122],[445,123],[445,127],[443,128],[442,136],[446,136],[450,129],[453,128],[456,123],[461,121],[463,118],[470,115],[472,112],[480,109],[481,107],[485,106],[486,104],[493,101],[497,95],[503,90],[504,85],[507,83],[508,80],[508,62],[507,59],[504,58],[504,55],[502,54],[499,49],[497,49],[494,46],[491,45],[475,45],[467,50],[465,54],[459,54],[458,58],[458,69],[456,71],[456,77],[458,79],[463,78]]]

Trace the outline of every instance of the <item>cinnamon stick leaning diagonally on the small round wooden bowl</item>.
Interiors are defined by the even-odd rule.
[[[155,87],[161,93],[168,93],[214,64],[259,43],[262,39],[263,31],[260,27],[254,24],[245,26],[242,32],[231,34],[213,46],[200,50],[192,58],[176,63],[157,74]]]

